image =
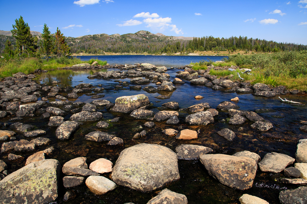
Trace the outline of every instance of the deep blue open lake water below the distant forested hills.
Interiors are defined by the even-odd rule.
[[[99,59],[107,61],[110,65],[115,64],[135,64],[135,63],[150,63],[157,67],[180,67],[191,62],[199,62],[200,60],[208,59],[213,62],[222,60],[227,56],[161,56],[161,55],[101,55],[101,56],[76,56],[83,61],[90,59]]]

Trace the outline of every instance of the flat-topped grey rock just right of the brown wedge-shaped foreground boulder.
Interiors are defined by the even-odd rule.
[[[272,152],[267,153],[258,165],[263,172],[279,173],[294,161],[295,159],[288,155]]]

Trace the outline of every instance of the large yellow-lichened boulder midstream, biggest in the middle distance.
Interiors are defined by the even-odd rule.
[[[114,112],[130,113],[131,111],[148,105],[149,99],[144,94],[121,96],[115,100],[115,105],[111,109]]]

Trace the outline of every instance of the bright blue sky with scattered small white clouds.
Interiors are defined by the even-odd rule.
[[[307,44],[307,0],[0,0],[0,5],[0,30],[11,30],[22,16],[31,30],[42,32],[46,23],[51,33],[59,27],[71,37],[147,30],[171,36],[241,35]]]

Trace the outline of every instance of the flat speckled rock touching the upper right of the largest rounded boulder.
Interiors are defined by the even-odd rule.
[[[198,159],[200,155],[206,155],[213,150],[200,145],[179,145],[176,147],[178,159],[192,160]]]

